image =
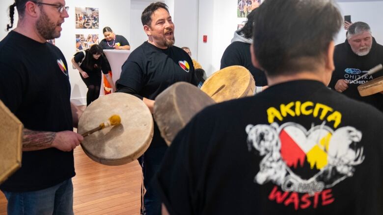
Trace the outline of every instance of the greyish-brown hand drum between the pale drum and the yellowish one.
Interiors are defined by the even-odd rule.
[[[203,108],[216,102],[199,88],[187,82],[177,82],[156,97],[154,119],[167,145]]]

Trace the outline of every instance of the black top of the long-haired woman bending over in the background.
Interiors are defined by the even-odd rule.
[[[88,49],[85,50],[85,54],[89,54]],[[74,58],[75,62],[79,63],[80,61],[82,61],[82,58],[84,58],[84,53],[82,51],[79,51],[75,54]],[[97,75],[101,77],[101,71],[104,74],[108,74],[109,70],[103,55],[101,55],[97,61],[95,59],[93,59],[93,61],[94,62],[92,68],[89,68],[87,67],[88,59],[85,57],[80,66],[82,71],[86,72],[89,76]]]

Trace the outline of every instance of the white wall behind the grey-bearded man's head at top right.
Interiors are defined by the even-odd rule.
[[[338,2],[342,16],[351,15],[352,22],[365,22],[370,25],[371,31],[379,44],[383,44],[383,1],[349,1]],[[346,30],[340,30],[335,44],[346,40]]]

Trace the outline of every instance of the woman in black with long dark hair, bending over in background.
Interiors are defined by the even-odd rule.
[[[79,51],[72,58],[73,66],[79,70],[82,81],[86,84],[86,106],[100,96],[101,71],[105,74],[112,88],[115,89],[113,81],[108,74],[107,65],[103,56],[103,49],[95,44],[89,49]]]

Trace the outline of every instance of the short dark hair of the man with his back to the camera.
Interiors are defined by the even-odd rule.
[[[342,24],[332,0],[266,0],[254,20],[255,56],[269,76],[314,72]]]

